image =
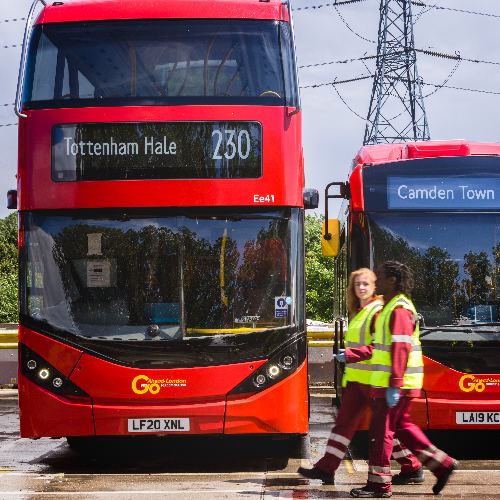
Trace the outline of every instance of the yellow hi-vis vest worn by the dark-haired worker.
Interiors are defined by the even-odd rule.
[[[389,387],[389,378],[392,373],[391,344],[393,342],[408,342],[406,335],[393,335],[389,328],[391,314],[397,307],[404,307],[408,311],[411,311],[416,321],[415,331],[410,337],[412,347],[401,388],[421,389],[424,380],[424,363],[422,361],[422,346],[418,335],[417,311],[411,300],[402,294],[396,295],[386,304],[375,322],[370,385],[373,387]]]

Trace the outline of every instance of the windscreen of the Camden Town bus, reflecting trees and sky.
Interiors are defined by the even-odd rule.
[[[413,270],[422,326],[498,322],[500,215],[370,214],[370,237],[374,269],[398,260]]]

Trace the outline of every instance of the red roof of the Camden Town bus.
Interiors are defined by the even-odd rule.
[[[353,170],[358,166],[377,163],[410,160],[414,158],[434,158],[439,156],[498,156],[498,142],[417,141],[363,146],[353,161]]]

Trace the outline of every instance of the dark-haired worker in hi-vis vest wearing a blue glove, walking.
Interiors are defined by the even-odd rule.
[[[458,463],[438,450],[410,420],[412,398],[419,397],[423,382],[422,348],[418,316],[411,300],[411,270],[400,262],[384,262],[377,269],[376,290],[385,306],[375,322],[370,371],[374,398],[369,430],[368,482],[351,490],[356,498],[388,498],[391,493],[391,452],[394,433],[436,476],[438,494]],[[407,484],[399,474],[395,484]]]

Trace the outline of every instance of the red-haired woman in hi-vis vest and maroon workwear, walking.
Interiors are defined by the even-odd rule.
[[[372,331],[377,313],[382,309],[381,297],[375,295],[375,273],[370,269],[358,269],[351,273],[347,286],[349,329],[345,336],[345,354],[334,355],[339,361],[347,361],[342,386],[342,406],[335,426],[328,439],[325,455],[312,469],[300,467],[298,472],[309,479],[321,479],[334,484],[335,471],[344,458],[347,446],[359,427],[373,398],[370,392],[370,357],[372,355]],[[367,361],[364,361],[367,359]],[[400,442],[394,440],[393,457],[408,476],[422,470],[421,463]],[[419,481],[424,480],[420,474]]]

